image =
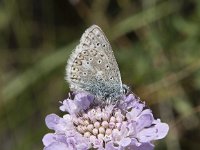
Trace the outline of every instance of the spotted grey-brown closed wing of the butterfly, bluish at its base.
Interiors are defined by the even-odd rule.
[[[87,91],[100,97],[122,94],[121,75],[112,48],[97,25],[85,31],[71,54],[66,79],[72,91]]]

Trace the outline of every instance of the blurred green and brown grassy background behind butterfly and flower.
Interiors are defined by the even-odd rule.
[[[68,96],[69,54],[99,25],[122,75],[170,125],[156,150],[200,149],[199,0],[0,0],[0,149],[39,150]]]

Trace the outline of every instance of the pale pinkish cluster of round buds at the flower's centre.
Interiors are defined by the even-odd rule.
[[[105,140],[111,134],[117,135],[122,124],[127,123],[121,110],[113,107],[91,109],[74,118],[73,122],[77,131],[90,140]]]

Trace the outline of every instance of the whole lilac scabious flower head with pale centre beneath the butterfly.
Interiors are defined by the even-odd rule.
[[[154,119],[133,94],[115,105],[95,105],[94,100],[88,93],[77,93],[60,106],[68,114],[48,115],[46,125],[55,132],[43,137],[44,150],[153,150],[152,142],[168,133],[169,126]]]

